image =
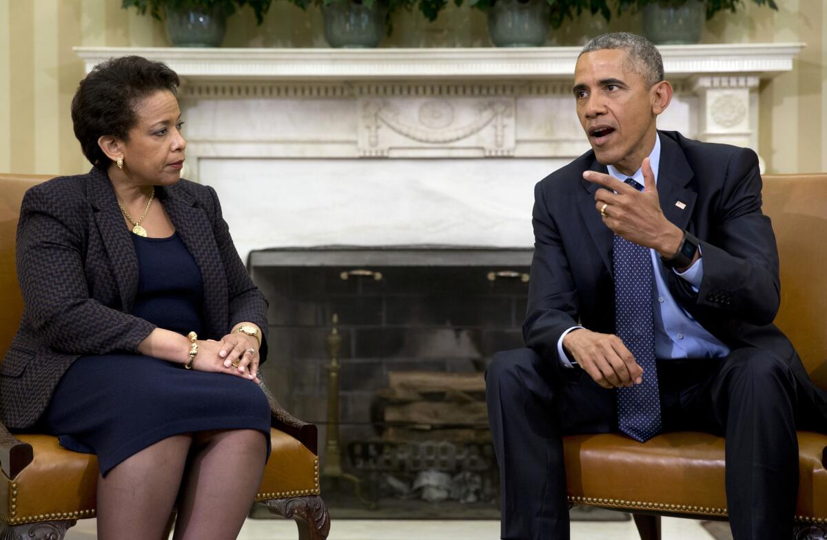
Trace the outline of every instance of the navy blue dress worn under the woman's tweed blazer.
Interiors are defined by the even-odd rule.
[[[200,334],[201,272],[184,242],[177,233],[131,237],[139,267],[132,315],[182,335]],[[270,455],[270,406],[256,383],[141,354],[76,359],[55,388],[41,429],[69,450],[97,454],[102,475],[147,446],[188,432],[256,429],[265,433]]]

